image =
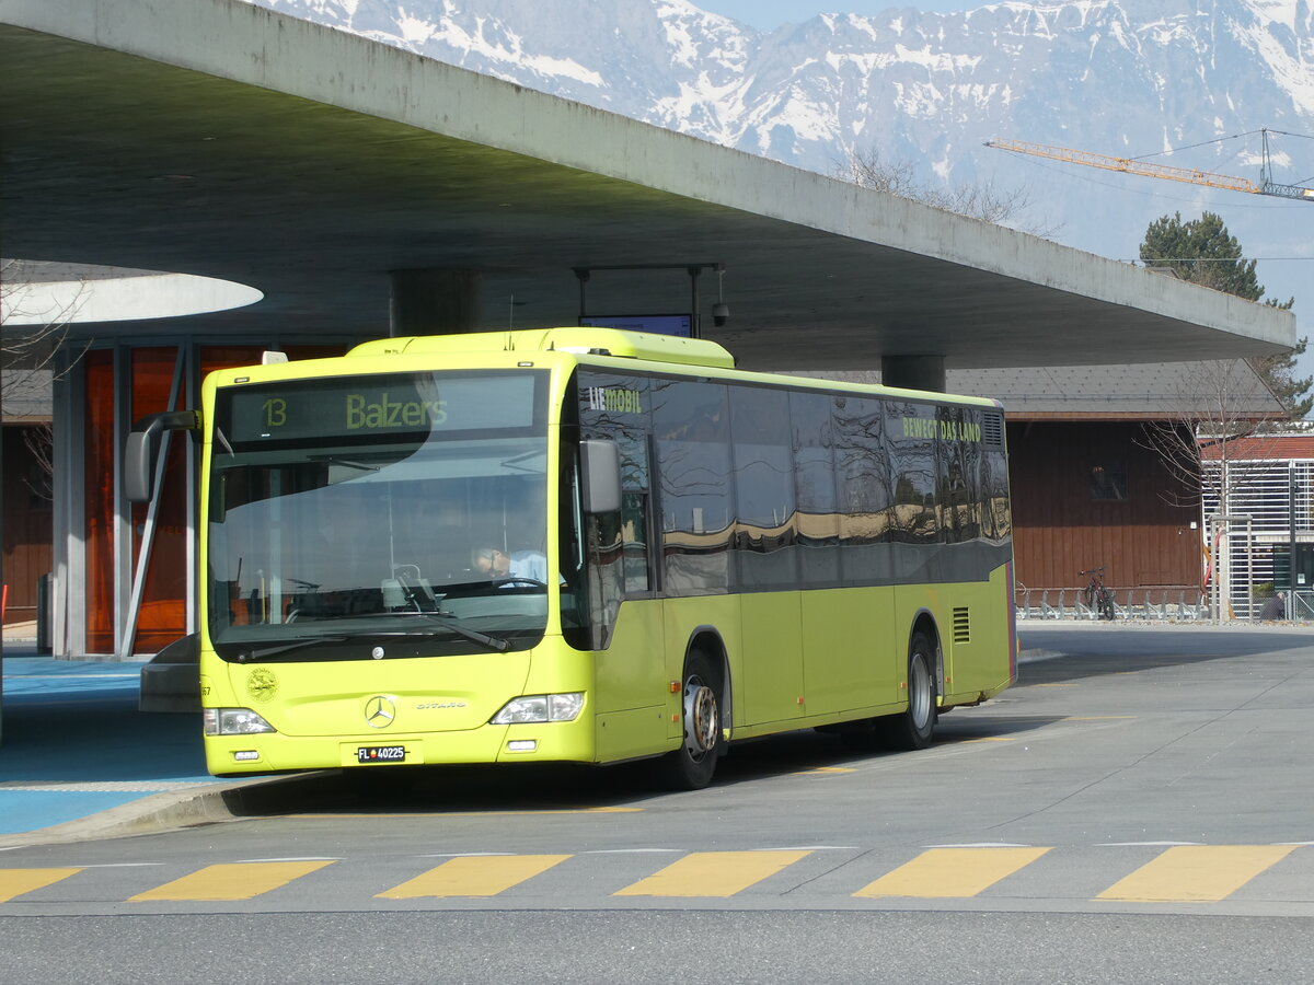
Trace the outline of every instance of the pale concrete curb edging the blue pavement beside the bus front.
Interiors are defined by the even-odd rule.
[[[131,838],[235,821],[250,814],[280,813],[293,805],[304,806],[315,796],[323,796],[321,788],[327,785],[326,777],[336,775],[336,770],[326,770],[296,776],[258,776],[215,783],[200,789],[152,793],[75,821],[0,835],[0,848]]]

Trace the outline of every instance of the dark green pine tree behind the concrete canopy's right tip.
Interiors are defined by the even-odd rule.
[[[1141,261],[1150,269],[1247,301],[1264,297],[1264,285],[1255,274],[1255,260],[1242,256],[1240,243],[1227,232],[1222,218],[1212,211],[1189,222],[1181,221],[1181,213],[1151,222],[1141,244]],[[1265,303],[1289,309],[1293,302],[1294,298],[1281,303],[1269,299]],[[1296,360],[1305,352],[1307,341],[1309,339],[1301,339],[1286,355],[1247,360],[1293,420],[1314,410],[1314,397],[1309,394],[1314,377],[1296,376]]]

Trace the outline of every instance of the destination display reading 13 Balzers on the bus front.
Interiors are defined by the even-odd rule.
[[[394,373],[231,387],[221,391],[219,426],[234,445],[531,428],[543,414],[541,377]]]

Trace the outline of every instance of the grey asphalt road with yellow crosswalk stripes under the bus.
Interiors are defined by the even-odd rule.
[[[0,852],[0,981],[1314,980],[1314,634],[1025,628],[921,753],[327,777]]]

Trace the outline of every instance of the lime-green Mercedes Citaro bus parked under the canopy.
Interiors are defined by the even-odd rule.
[[[213,774],[920,749],[1017,676],[1004,415],[607,328],[394,338],[206,377]]]

